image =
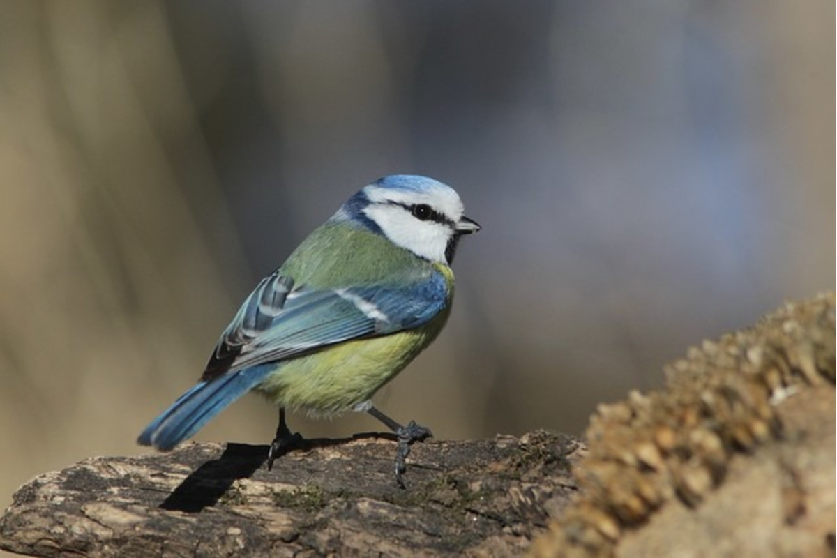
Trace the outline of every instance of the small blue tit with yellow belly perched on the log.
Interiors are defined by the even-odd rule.
[[[285,410],[330,417],[367,412],[395,433],[395,479],[427,427],[396,422],[372,396],[439,335],[454,298],[450,267],[464,235],[454,188],[392,175],[349,197],[244,300],[198,383],[142,431],[137,443],[168,451],[250,391],[279,407],[267,467],[301,440]]]

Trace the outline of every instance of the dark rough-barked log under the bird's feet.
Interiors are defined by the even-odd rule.
[[[31,555],[519,555],[557,516],[583,445],[521,438],[420,443],[399,489],[395,444],[312,440],[264,467],[267,446],[187,443],[90,458],[33,479],[0,520]]]

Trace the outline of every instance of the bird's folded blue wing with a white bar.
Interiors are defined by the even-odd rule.
[[[342,341],[419,327],[447,304],[448,287],[436,270],[398,284],[341,289],[295,288],[276,272],[259,283],[223,332],[203,380]]]

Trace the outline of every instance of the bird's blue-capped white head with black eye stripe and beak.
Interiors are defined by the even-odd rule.
[[[460,237],[480,230],[463,212],[459,194],[446,184],[393,175],[363,187],[335,217],[361,223],[419,258],[449,265]]]

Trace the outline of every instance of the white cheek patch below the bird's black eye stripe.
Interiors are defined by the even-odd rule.
[[[442,223],[419,221],[405,207],[372,204],[363,213],[377,223],[389,240],[420,258],[447,264],[444,250],[453,231]]]

